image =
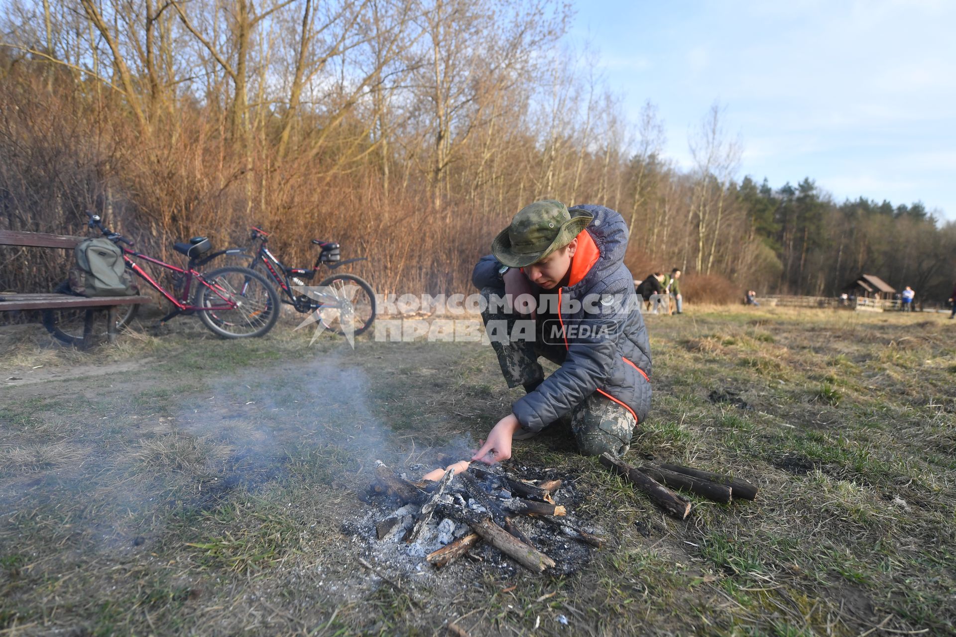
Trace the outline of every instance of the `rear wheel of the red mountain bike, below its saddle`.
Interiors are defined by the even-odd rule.
[[[227,265],[203,274],[195,305],[206,328],[224,338],[251,338],[266,334],[279,318],[279,297],[266,278],[239,265]]]

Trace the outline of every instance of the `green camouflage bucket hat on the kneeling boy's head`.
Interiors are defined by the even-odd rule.
[[[574,241],[592,219],[581,210],[572,213],[554,200],[529,203],[494,238],[491,253],[509,267],[532,265]]]

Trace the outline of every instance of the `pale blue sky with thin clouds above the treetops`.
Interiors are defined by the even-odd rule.
[[[956,1],[576,0],[573,38],[597,50],[638,121],[658,106],[665,154],[719,100],[738,174],[810,177],[837,202],[923,201],[956,220]]]

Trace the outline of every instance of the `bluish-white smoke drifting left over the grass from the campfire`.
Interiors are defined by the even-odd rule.
[[[340,506],[343,494],[368,485],[376,459],[400,470],[437,466],[417,432],[383,422],[402,416],[401,406],[386,405],[402,396],[373,388],[361,361],[349,352],[302,355],[315,358],[259,369],[243,361],[241,372],[225,373],[228,360],[209,360],[206,389],[194,372],[164,386],[127,378],[90,389],[93,403],[54,400],[47,411],[25,407],[22,423],[4,417],[0,539],[21,537],[47,511],[51,544],[67,536],[64,545],[83,550],[128,547],[141,536],[172,541],[165,526],[190,511],[250,497]],[[465,435],[444,442],[459,454],[474,446]]]

